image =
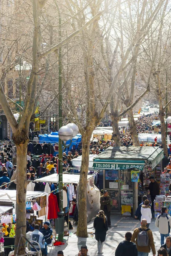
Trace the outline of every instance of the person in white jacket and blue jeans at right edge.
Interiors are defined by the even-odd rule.
[[[169,236],[171,231],[171,216],[168,215],[167,207],[162,207],[162,213],[157,216],[155,225],[159,228],[162,245],[164,244],[164,239]]]

